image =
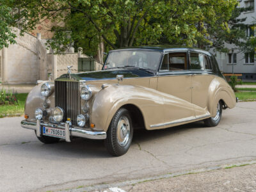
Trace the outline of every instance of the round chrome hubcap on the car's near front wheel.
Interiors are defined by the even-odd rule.
[[[124,147],[130,137],[130,122],[127,116],[122,116],[117,124],[117,141],[118,144]]]

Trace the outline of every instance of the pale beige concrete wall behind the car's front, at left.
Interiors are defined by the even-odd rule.
[[[0,50],[0,81],[3,84],[35,84],[37,80],[51,79],[67,74],[67,66],[72,65],[72,73],[77,72],[78,58],[88,56],[79,52],[63,54],[47,54],[45,41],[41,35],[37,37],[24,33],[19,35],[15,28],[17,44],[9,45]],[[72,50],[71,50],[72,51]],[[101,70],[102,65],[96,62],[95,70]]]

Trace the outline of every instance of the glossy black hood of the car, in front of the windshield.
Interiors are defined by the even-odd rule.
[[[63,74],[57,81],[99,81],[115,79],[117,75],[123,75],[125,78],[136,78],[136,77],[152,77],[154,74],[146,72],[143,70],[133,69],[133,68],[118,68],[114,70],[100,70],[94,72],[83,72],[78,74]],[[71,78],[70,78],[71,77]]]

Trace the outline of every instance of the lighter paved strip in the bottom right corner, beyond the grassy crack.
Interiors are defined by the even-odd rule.
[[[70,191],[80,191],[73,189]],[[89,190],[90,191],[90,190]],[[186,174],[168,179],[138,182],[120,187],[96,189],[104,192],[136,191],[256,191],[256,164],[234,168],[222,168],[212,172]]]

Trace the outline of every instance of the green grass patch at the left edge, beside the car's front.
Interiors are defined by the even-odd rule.
[[[26,102],[26,98],[28,93],[18,93],[16,95],[17,100],[19,100],[19,104],[15,105],[0,105],[0,118],[6,115],[14,116],[17,113],[24,113],[24,106]]]

